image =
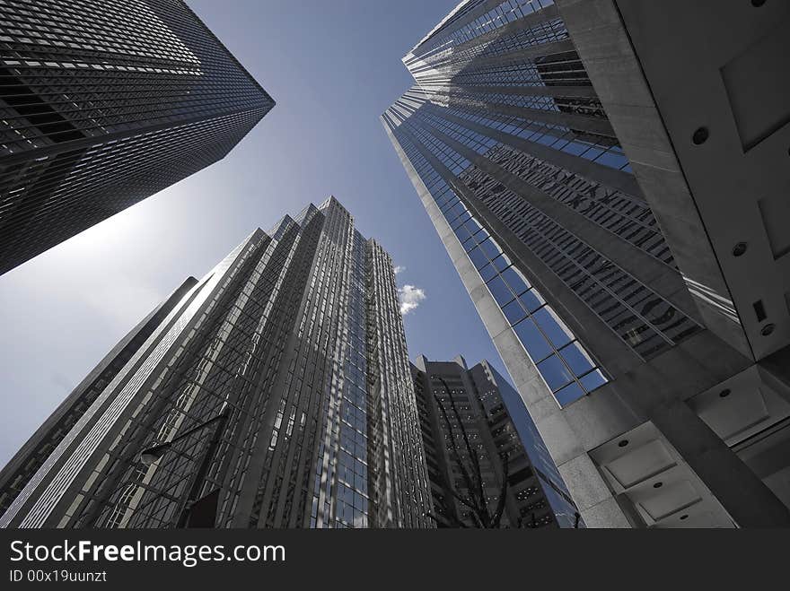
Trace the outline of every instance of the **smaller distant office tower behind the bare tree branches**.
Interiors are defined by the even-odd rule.
[[[456,495],[471,504],[485,496],[494,517],[503,490],[500,526],[584,526],[576,523],[573,501],[521,397],[487,361],[469,369],[461,356],[428,361],[420,355],[411,373],[438,526],[479,526]]]

